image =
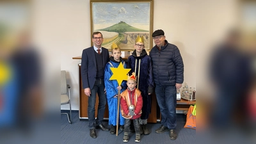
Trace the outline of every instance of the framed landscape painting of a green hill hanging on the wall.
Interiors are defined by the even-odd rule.
[[[152,48],[153,0],[91,0],[91,32],[100,31],[102,47],[111,51],[115,42],[121,51],[133,51],[137,36],[144,38],[145,50]],[[92,44],[93,45],[93,44]]]

